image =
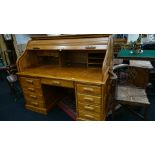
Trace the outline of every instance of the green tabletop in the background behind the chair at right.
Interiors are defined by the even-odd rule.
[[[121,49],[117,55],[119,58],[133,58],[133,59],[155,59],[155,50],[143,50],[143,53],[134,54],[132,50]]]

